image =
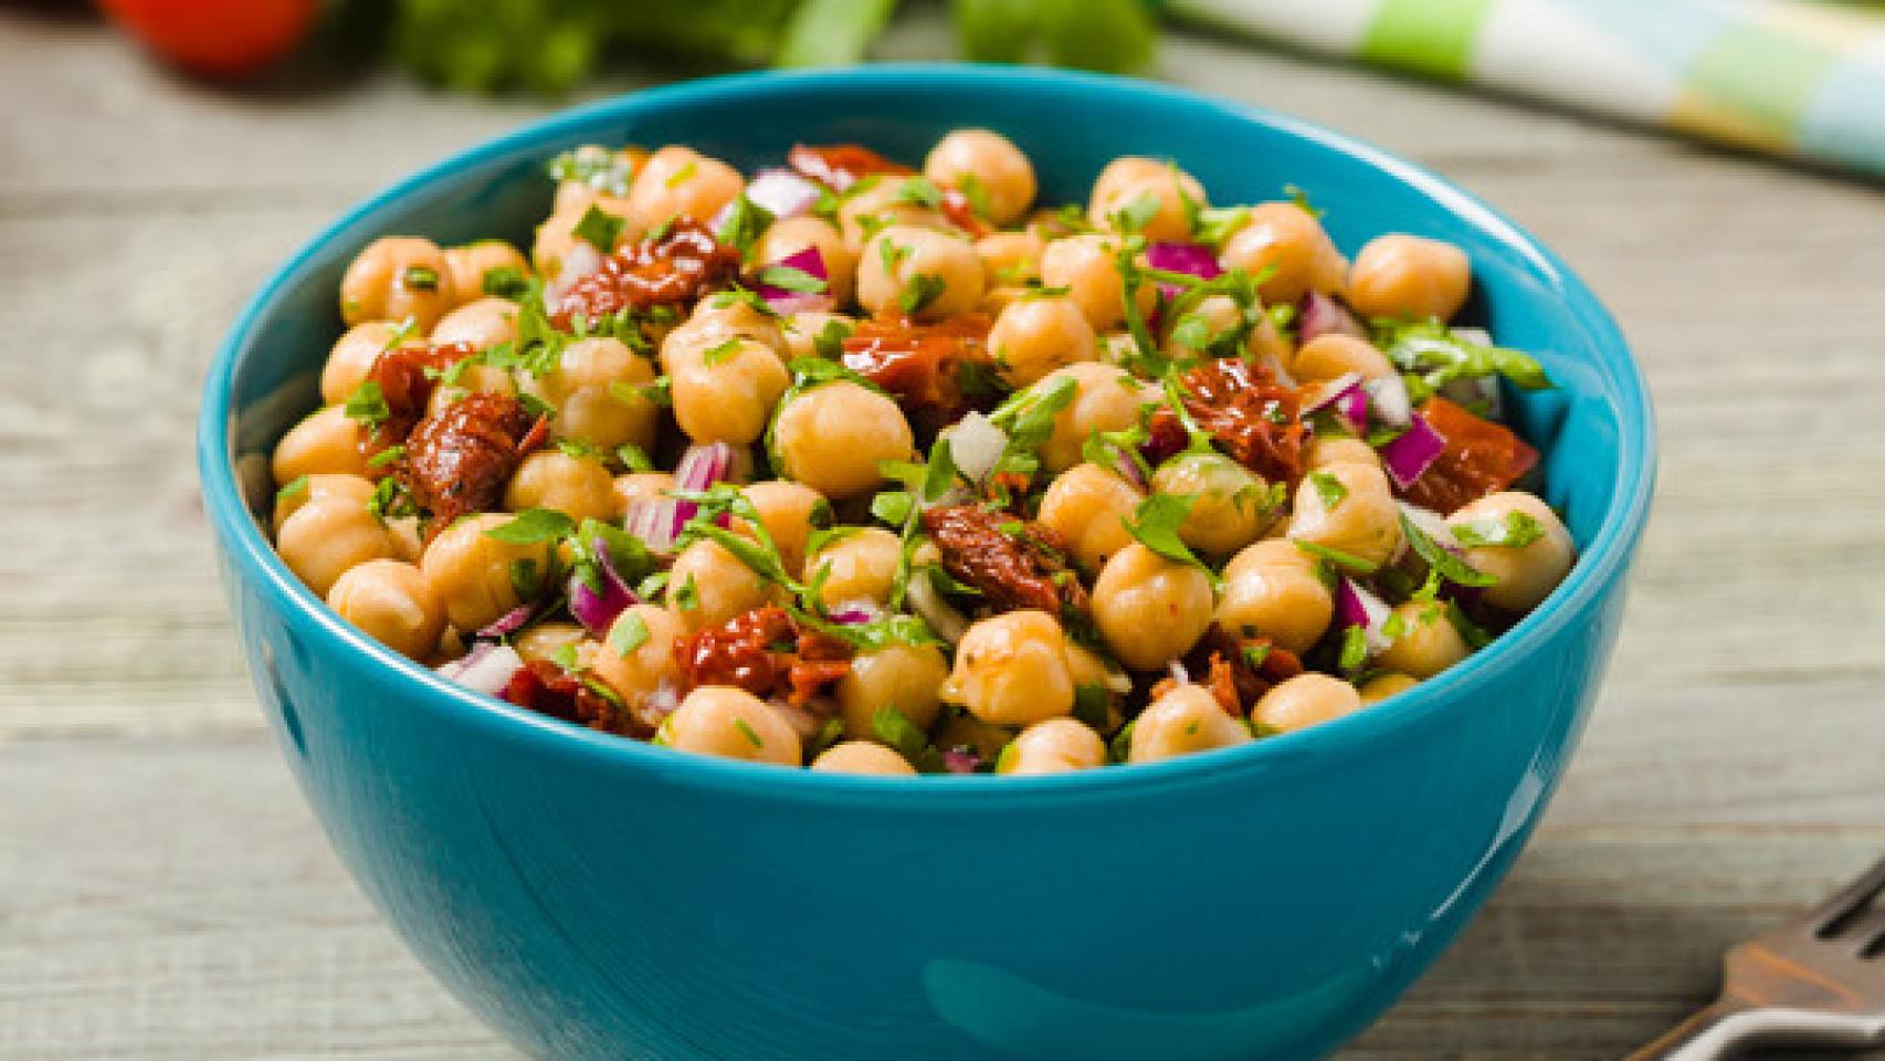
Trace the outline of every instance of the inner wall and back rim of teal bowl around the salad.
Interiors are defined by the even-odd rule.
[[[1506,219],[1414,166],[1278,115],[1133,81],[961,66],[763,73],[648,90],[528,126],[368,202],[256,296],[211,371],[202,441],[205,492],[222,533],[271,563],[275,580],[292,582],[260,531],[271,498],[266,454],[319,401],[320,364],[343,328],[339,277],[373,237],[418,234],[449,245],[500,236],[528,249],[552,198],[545,162],[579,143],[690,143],[750,173],[779,164],[799,141],[858,141],[914,164],[959,126],[1014,139],[1035,162],[1046,204],[1084,204],[1108,160],[1150,155],[1197,175],[1216,204],[1274,200],[1286,185],[1301,187],[1327,211],[1323,220],[1350,256],[1382,232],[1450,239],[1470,254],[1476,292],[1465,317],[1502,345],[1534,352],[1559,383],[1533,394],[1508,388],[1506,398],[1521,433],[1544,452],[1546,498],[1565,514],[1582,560],[1499,646],[1408,697],[1436,695],[1487,658],[1519,652],[1525,628],[1538,628],[1574,594],[1595,594],[1627,560],[1653,460],[1642,379],[1583,283]],[[251,520],[234,514],[238,496]],[[1350,722],[1361,720],[1335,727]]]

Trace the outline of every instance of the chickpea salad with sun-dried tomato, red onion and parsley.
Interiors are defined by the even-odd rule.
[[[581,147],[526,256],[386,236],[275,547],[345,620],[524,709],[816,771],[1042,775],[1367,710],[1570,571],[1455,315],[1297,188],[1123,156],[1037,204],[997,132],[743,175]]]

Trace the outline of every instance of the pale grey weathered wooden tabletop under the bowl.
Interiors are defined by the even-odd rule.
[[[222,92],[47,11],[0,9],[0,1057],[513,1057],[368,908],[262,733],[192,422],[292,247],[547,106],[390,72]],[[924,11],[886,57],[946,55]],[[1483,194],[1649,371],[1661,499],[1583,752],[1348,1052],[1614,1057],[1885,850],[1885,198],[1231,43],[1172,36],[1163,68]]]

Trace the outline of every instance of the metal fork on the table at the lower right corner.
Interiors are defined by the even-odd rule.
[[[1721,997],[1627,1061],[1708,1061],[1738,1046],[1885,1044],[1885,859],[1811,914],[1727,954]]]

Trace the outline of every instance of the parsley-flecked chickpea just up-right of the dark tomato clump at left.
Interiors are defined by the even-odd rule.
[[[654,367],[613,337],[577,339],[564,347],[556,367],[524,386],[556,409],[556,437],[582,439],[605,452],[624,443],[654,449],[662,409],[643,390]]]

